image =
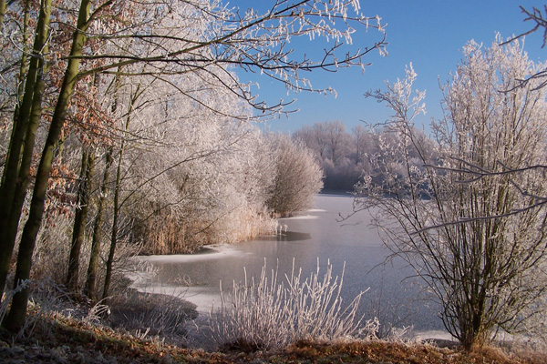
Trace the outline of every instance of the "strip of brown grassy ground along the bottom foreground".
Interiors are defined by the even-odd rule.
[[[128,308],[131,310],[131,308]],[[148,308],[147,308],[148,309]],[[0,330],[2,363],[545,363],[537,352],[507,353],[487,348],[465,352],[457,347],[390,343],[381,340],[345,343],[299,342],[277,351],[186,349],[159,338],[139,339],[128,330],[32,309],[23,335]]]

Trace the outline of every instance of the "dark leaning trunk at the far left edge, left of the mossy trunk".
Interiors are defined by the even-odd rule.
[[[9,263],[15,245],[16,230],[21,216],[21,207],[19,205],[22,206],[22,202],[19,204],[15,199],[15,195],[20,197],[21,190],[26,191],[26,187],[28,186],[27,179],[22,180],[19,176],[23,147],[29,142],[25,140],[25,136],[31,115],[41,113],[42,95],[44,93],[42,73],[45,68],[43,55],[47,52],[46,41],[50,12],[51,0],[44,0],[40,6],[40,14],[36,25],[33,56],[26,73],[25,93],[20,105],[15,109],[14,125],[8,147],[4,174],[2,176],[2,185],[0,186],[0,206],[2,206],[0,208],[0,295],[4,292],[5,279],[9,270]],[[28,16],[26,15],[26,21],[27,18]],[[23,56],[21,75],[25,74],[25,63],[26,56]],[[38,85],[36,86],[36,84]],[[35,92],[38,94],[35,95]],[[32,131],[30,134],[32,135]],[[34,146],[34,138],[32,139],[32,145]],[[23,175],[26,175],[26,171],[23,171]],[[23,197],[23,200],[25,200],[25,197]]]

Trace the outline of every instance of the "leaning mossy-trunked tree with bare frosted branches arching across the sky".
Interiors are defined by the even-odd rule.
[[[46,11],[49,6],[50,2],[43,0],[40,14],[45,22],[50,19]],[[60,75],[61,86],[45,145],[37,153],[40,162],[20,242],[15,285],[29,278],[55,148],[78,80],[96,73],[135,76],[131,72],[124,73],[123,69],[136,64],[146,65],[144,72],[159,77],[163,82],[169,82],[167,76],[173,74],[210,75],[214,80],[210,87],[229,90],[263,112],[264,116],[272,116],[283,112],[286,104],[280,101],[269,105],[256,99],[250,85],[227,72],[228,66],[261,72],[290,90],[326,93],[330,91],[329,87],[313,88],[301,75],[302,72],[365,66],[363,57],[375,49],[381,51],[385,39],[379,18],[362,15],[356,0],[275,1],[262,12],[232,9],[219,0],[163,0],[160,3],[121,0],[96,3],[82,0],[76,8],[73,6],[68,3],[65,9],[67,14],[77,14],[77,21],[68,25],[68,28],[74,29],[70,50],[65,56],[57,58],[66,62],[67,68]],[[60,23],[70,22],[70,19],[69,15],[62,17]],[[377,41],[372,41],[371,46],[364,49],[351,45],[351,35],[357,30],[366,31],[369,27],[380,31]],[[48,29],[44,25],[37,27],[36,35],[47,35]],[[322,37],[331,41],[332,46],[316,58],[299,58],[290,41],[300,36]],[[36,51],[42,49],[43,46],[36,47]],[[142,52],[143,49],[153,49],[153,52]],[[36,59],[46,60],[47,57],[40,57],[38,52]],[[33,76],[30,73],[26,75],[26,81],[32,81]],[[38,92],[36,96],[41,94],[43,92]],[[211,102],[207,90],[190,97],[204,106]],[[9,154],[15,148],[10,148]],[[13,168],[6,167],[6,173],[11,173]],[[14,184],[15,179],[3,180],[2,198],[8,197],[7,191]],[[10,221],[18,222],[20,212],[12,215]],[[14,239],[5,230],[0,230],[0,244],[3,246],[13,246]],[[10,260],[11,251],[2,249],[0,255],[3,262]],[[0,269],[0,277],[5,276],[7,267]],[[22,326],[27,296],[27,289],[23,289],[13,298],[5,320],[7,328],[15,330]]]

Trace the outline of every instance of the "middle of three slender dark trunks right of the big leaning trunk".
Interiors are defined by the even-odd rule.
[[[100,197],[98,198],[97,217],[95,218],[93,227],[93,240],[91,243],[91,255],[89,257],[88,274],[86,278],[86,286],[84,293],[91,299],[97,299],[96,286],[97,286],[97,268],[98,258],[100,256],[100,244],[102,235],[102,224],[104,209],[108,199],[108,178],[110,177],[110,167],[112,166],[113,148],[110,147],[107,152],[107,163],[105,166],[105,173],[100,185]]]

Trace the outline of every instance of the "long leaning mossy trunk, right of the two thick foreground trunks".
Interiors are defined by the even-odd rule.
[[[46,0],[50,1],[50,0]],[[19,245],[19,254],[17,257],[17,266],[15,268],[15,286],[22,281],[26,281],[30,276],[32,254],[36,243],[36,236],[42,223],[44,214],[44,204],[46,200],[47,182],[53,162],[54,148],[56,147],[61,129],[65,122],[67,107],[77,82],[77,70],[80,63],[79,56],[82,55],[82,48],[86,41],[85,31],[88,28],[89,7],[91,0],[82,0],[78,12],[77,29],[74,32],[70,58],[68,60],[67,70],[63,78],[63,85],[59,92],[57,105],[51,118],[51,126],[46,138],[46,144],[42,151],[40,164],[36,171],[36,182],[33,197],[30,202],[28,219],[23,229],[21,243]],[[26,305],[28,301],[28,288],[24,288],[15,293],[12,305],[4,326],[12,332],[21,329],[26,319]]]

